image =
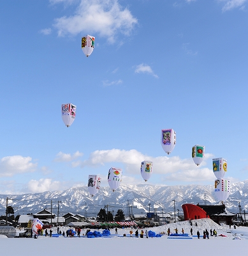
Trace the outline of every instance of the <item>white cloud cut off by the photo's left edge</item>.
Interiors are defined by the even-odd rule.
[[[31,157],[6,156],[0,160],[0,177],[13,176],[17,173],[34,172],[37,164]]]

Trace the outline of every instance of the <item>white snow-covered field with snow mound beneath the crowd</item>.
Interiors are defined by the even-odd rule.
[[[0,236],[1,255],[109,255],[109,256],[127,256],[127,255],[236,255],[248,252],[248,228],[219,226],[210,219],[197,220],[198,227],[193,221],[193,237],[190,235],[191,225],[189,221],[171,223],[156,228],[147,228],[159,233],[166,233],[170,227],[171,232],[174,229],[181,233],[184,228],[184,234],[189,234],[193,239],[168,239],[167,234],[162,237],[154,238],[136,238],[129,237],[130,228],[119,228],[118,235],[115,230],[110,229],[111,237],[45,237],[34,238],[6,238]],[[61,230],[66,227],[61,227]],[[210,236],[209,239],[198,239],[196,236],[199,230],[201,236],[205,228],[210,231],[217,231],[217,237]],[[144,229],[145,230],[145,229]],[[86,230],[82,230],[84,234]],[[93,230],[92,230],[93,231]],[[103,230],[100,229],[100,232]],[[135,231],[135,230],[134,230]],[[140,234],[140,229],[138,230]],[[54,228],[53,234],[57,233]],[[124,237],[123,235],[127,236]],[[134,235],[134,234],[133,234]],[[219,235],[223,235],[219,236]]]

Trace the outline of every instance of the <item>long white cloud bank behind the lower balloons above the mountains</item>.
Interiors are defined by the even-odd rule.
[[[206,155],[205,160],[213,156],[212,154]],[[96,150],[91,153],[89,159],[81,163],[81,167],[90,166],[97,168],[101,165],[104,166],[106,163],[121,163],[124,165],[126,174],[133,173],[138,175],[140,173],[140,163],[144,160],[152,161],[153,170],[156,170],[156,174],[161,175],[161,177],[166,177],[166,180],[187,182],[214,180],[212,170],[204,167],[206,164],[205,161],[201,163],[201,166],[196,166],[192,159],[180,159],[179,156],[150,157],[143,155],[135,149],[120,150],[113,148],[111,150]]]

